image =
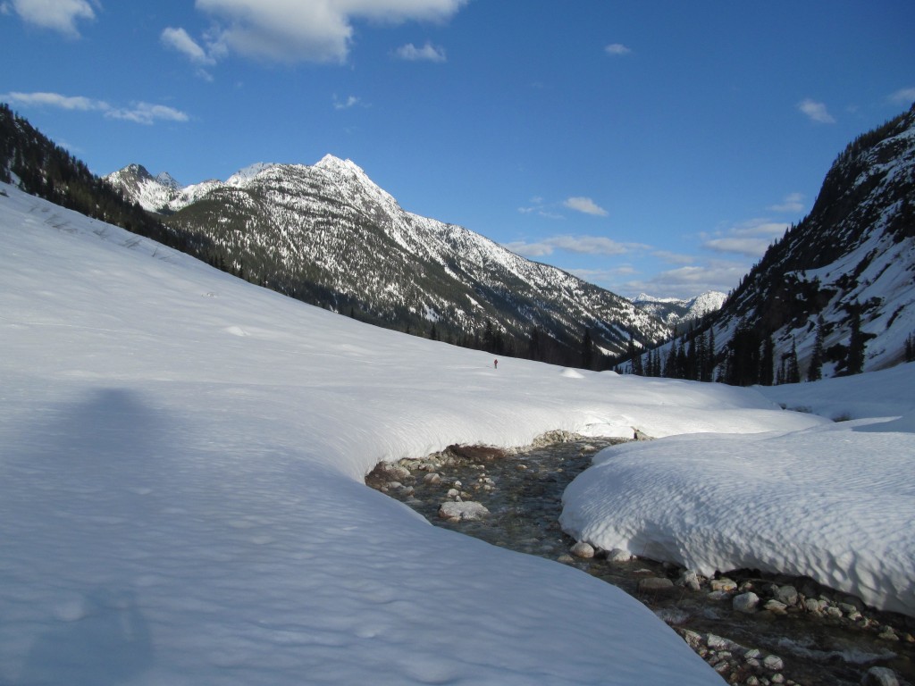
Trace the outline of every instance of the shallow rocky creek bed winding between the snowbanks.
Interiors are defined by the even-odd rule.
[[[558,523],[565,487],[598,450],[621,442],[555,432],[522,451],[453,445],[425,458],[382,463],[366,483],[436,526],[570,564],[619,586],[674,627],[729,683],[851,686],[874,667],[893,670],[900,684],[915,683],[910,618],[869,609],[810,579],[742,570],[700,580],[698,589],[674,584],[646,590],[646,579],[676,581],[682,570],[643,556],[612,562],[605,552],[571,555],[576,541]],[[448,506],[460,509],[468,502],[482,504],[489,514],[479,520],[442,516],[443,503],[462,503]],[[712,584],[726,590],[711,593]],[[782,587],[796,589],[799,599],[778,613],[747,614],[732,606],[735,595],[752,591],[765,602]],[[810,611],[804,606],[808,599],[819,607]],[[777,669],[767,669],[773,666]]]

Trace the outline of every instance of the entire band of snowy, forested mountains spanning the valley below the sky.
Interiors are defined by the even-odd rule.
[[[0,180],[29,193],[340,314],[459,345],[593,368],[649,350],[632,370],[739,384],[915,357],[915,106],[848,145],[811,213],[726,300],[633,303],[406,212],[332,155],[188,187],[139,165],[101,179],[2,104],[0,144]]]

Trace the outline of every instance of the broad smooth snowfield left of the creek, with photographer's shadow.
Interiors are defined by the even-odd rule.
[[[0,188],[0,683],[720,682],[614,587],[362,477],[556,428],[824,420],[753,390],[494,370]]]

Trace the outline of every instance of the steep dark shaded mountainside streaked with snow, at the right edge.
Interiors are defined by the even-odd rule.
[[[915,333],[915,106],[835,160],[808,217],[773,245],[721,310],[726,345],[741,320],[796,345],[802,375],[823,318],[823,375],[846,370],[855,312],[866,370],[902,361]]]

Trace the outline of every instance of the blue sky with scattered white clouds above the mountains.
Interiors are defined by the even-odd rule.
[[[331,153],[404,209],[690,297],[915,101],[913,27],[911,0],[0,0],[0,100],[96,174]]]

